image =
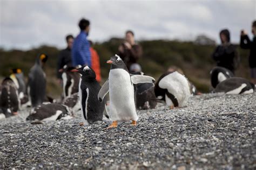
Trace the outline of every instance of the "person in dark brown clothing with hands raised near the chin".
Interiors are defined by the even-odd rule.
[[[130,68],[132,63],[137,63],[138,59],[142,56],[142,47],[136,44],[132,31],[126,31],[125,41],[118,47],[118,55],[124,61],[127,68]]]

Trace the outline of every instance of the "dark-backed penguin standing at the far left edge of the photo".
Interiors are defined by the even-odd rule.
[[[14,81],[9,77],[6,77],[2,82],[0,107],[10,109],[14,115],[17,115],[17,111],[20,107],[18,89]]]

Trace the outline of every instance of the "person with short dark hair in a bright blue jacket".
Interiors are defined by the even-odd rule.
[[[78,65],[91,67],[91,52],[90,44],[87,40],[87,36],[90,31],[90,22],[87,19],[82,18],[78,24],[80,33],[75,38],[72,47],[72,62],[73,66]]]

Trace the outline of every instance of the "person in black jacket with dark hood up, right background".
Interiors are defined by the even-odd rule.
[[[221,45],[217,46],[212,58],[217,62],[217,66],[225,67],[234,73],[238,67],[239,56],[237,49],[230,43],[230,32],[228,30],[220,31]]]

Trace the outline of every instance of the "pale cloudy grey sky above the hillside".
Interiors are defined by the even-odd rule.
[[[238,43],[241,29],[252,38],[256,0],[65,1],[0,0],[0,47],[30,49],[40,45],[65,48],[65,36],[79,33],[89,19],[89,39],[103,42],[133,30],[137,40],[193,40],[199,34],[219,41],[231,31]]]

